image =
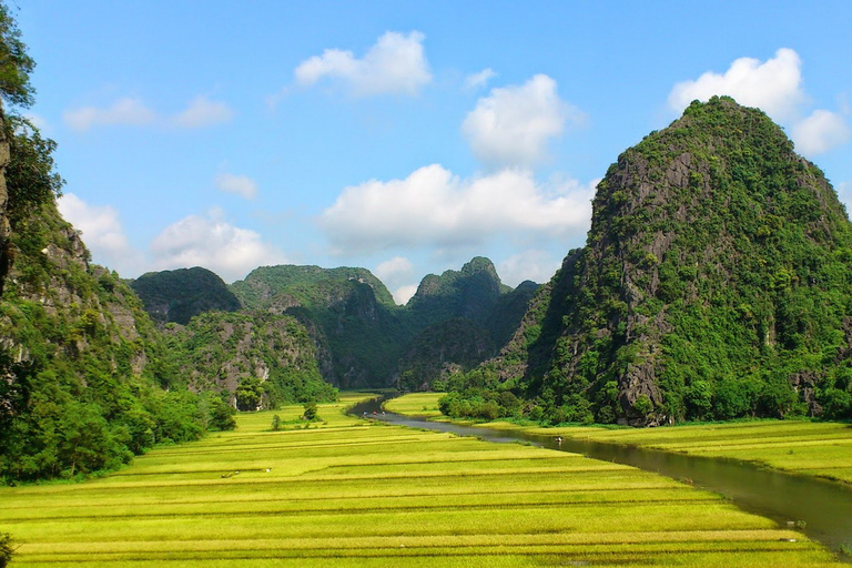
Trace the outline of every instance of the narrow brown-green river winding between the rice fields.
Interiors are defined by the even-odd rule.
[[[832,550],[840,545],[852,546],[852,487],[840,483],[805,477],[724,458],[688,456],[632,446],[599,442],[537,436],[518,430],[499,430],[460,426],[443,422],[383,413],[383,398],[365,402],[351,413],[402,426],[452,432],[487,442],[525,442],[536,446],[572,452],[587,457],[625,464],[648,471],[687,480],[730,499],[749,513],[769,517],[780,526],[799,526],[811,539]],[[375,415],[373,413],[376,413]]]

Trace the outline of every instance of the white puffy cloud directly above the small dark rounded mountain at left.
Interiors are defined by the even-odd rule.
[[[257,266],[286,262],[260,234],[227,223],[217,210],[206,217],[190,215],[169,225],[153,240],[150,252],[155,270],[203,266],[226,282],[242,278]]]

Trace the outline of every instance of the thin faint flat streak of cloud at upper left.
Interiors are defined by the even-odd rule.
[[[162,115],[150,109],[144,101],[135,97],[125,97],[111,106],[82,106],[65,111],[65,124],[78,132],[88,132],[94,126],[172,126],[197,129],[227,122],[233,111],[223,102],[212,101],[206,97],[194,99],[190,105],[174,114]]]

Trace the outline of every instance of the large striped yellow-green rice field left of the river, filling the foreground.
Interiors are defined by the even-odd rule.
[[[692,486],[361,420],[342,413],[354,402],[312,424],[301,406],[243,414],[82,484],[0,488],[12,567],[844,566]]]

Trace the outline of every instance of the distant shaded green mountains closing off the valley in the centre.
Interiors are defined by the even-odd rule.
[[[414,390],[496,355],[536,287],[511,291],[491,261],[476,257],[460,272],[426,276],[405,307],[364,268],[263,266],[231,290],[246,312],[296,317],[318,346],[327,382],[351,388],[395,381]]]

